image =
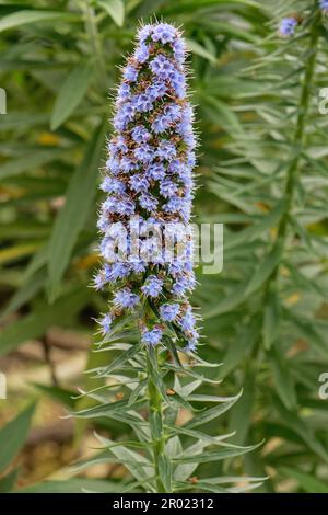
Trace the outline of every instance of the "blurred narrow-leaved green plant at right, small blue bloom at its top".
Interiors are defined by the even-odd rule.
[[[263,487],[270,491],[279,477],[306,491],[327,491],[325,482],[313,482],[313,476],[326,478],[328,458],[326,407],[317,397],[327,367],[321,3],[290,2],[277,10],[276,27],[278,16],[285,16],[280,33],[288,38],[266,38],[244,71],[255,88],[243,95],[245,104],[235,103],[243,119],[238,138],[209,183],[233,208],[222,217],[235,229],[227,231],[225,270],[213,286],[222,288],[222,301],[204,317],[214,330],[213,317],[222,320],[222,377],[238,370],[245,386],[244,405],[230,421],[241,426],[237,442],[274,437],[263,456],[246,464],[248,471],[274,471]]]

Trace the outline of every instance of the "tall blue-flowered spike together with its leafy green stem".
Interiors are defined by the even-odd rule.
[[[214,436],[199,430],[241,394],[195,393],[202,385],[211,388],[220,381],[206,377],[207,369],[219,365],[195,352],[199,335],[188,300],[195,286],[188,228],[196,140],[185,56],[184,39],[174,26],[156,23],[140,28],[136,50],[122,70],[102,182],[107,198],[98,228],[105,264],[95,286],[109,286],[113,300],[99,320],[102,341],[95,352],[114,357],[90,370],[106,382],[85,393],[97,404],[74,415],[124,423],[126,438],[115,442],[96,435],[103,449],[75,470],[102,461],[121,464],[129,471],[126,492],[235,492],[261,482],[243,478],[245,485],[236,487],[241,478],[195,476],[201,464],[241,456],[256,446],[227,443],[233,433]],[[121,256],[119,251],[132,247],[129,233],[121,248],[131,220],[139,231],[140,253],[115,261],[114,251]],[[167,258],[161,245],[145,238],[149,225],[164,227],[168,240],[176,238],[174,251],[187,233],[184,252]],[[174,234],[176,227],[180,232]]]

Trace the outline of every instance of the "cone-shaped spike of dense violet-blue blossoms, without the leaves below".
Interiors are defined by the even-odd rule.
[[[188,295],[196,284],[189,230],[196,138],[184,68],[185,43],[180,32],[167,23],[142,26],[137,41],[117,91],[114,134],[101,186],[107,195],[98,220],[105,265],[95,286],[113,289],[112,307],[101,330],[106,333],[116,320],[136,313],[145,345],[165,345],[175,331],[176,345],[194,351],[198,333]],[[131,221],[133,231],[139,231],[133,241]],[[166,253],[163,242],[148,234],[149,225],[153,232],[160,228],[165,233],[166,228],[174,241],[172,228],[168,231],[172,224],[183,225],[177,232],[178,242],[184,236],[186,240],[181,254],[175,253],[177,242]],[[116,225],[119,227],[113,231]],[[119,237],[125,237],[124,243]],[[113,245],[125,251],[119,262],[113,262]]]

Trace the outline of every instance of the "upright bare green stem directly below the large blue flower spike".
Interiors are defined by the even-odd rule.
[[[153,447],[153,464],[156,476],[156,490],[157,493],[167,492],[160,473],[160,461],[165,458],[165,437],[164,437],[164,421],[163,421],[163,398],[162,393],[156,386],[154,375],[159,377],[157,368],[157,348],[150,348],[152,359],[147,356],[148,367],[148,396],[149,396],[149,421]]]

